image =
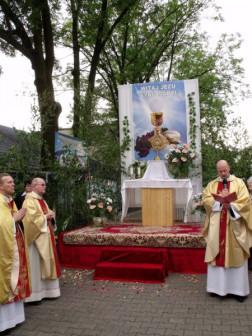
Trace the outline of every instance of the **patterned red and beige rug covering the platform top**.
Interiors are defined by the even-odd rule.
[[[146,246],[204,248],[202,225],[176,224],[171,227],[144,227],[141,224],[86,226],[64,233],[63,242],[71,245]]]

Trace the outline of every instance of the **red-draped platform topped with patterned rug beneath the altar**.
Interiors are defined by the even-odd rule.
[[[202,226],[194,223],[152,228],[132,224],[118,224],[105,228],[84,227],[60,234],[59,255],[62,266],[95,269],[99,262],[111,263],[111,260],[106,259],[108,250],[117,251],[118,256],[115,254],[113,258],[119,258],[117,262],[120,264],[122,255],[134,249],[137,253],[134,254],[133,264],[144,264],[149,263],[149,259],[142,259],[145,257],[141,256],[146,252],[146,249],[161,249],[162,253],[165,254],[165,272],[168,270],[178,273],[205,273],[205,241],[201,230]],[[129,253],[126,255],[129,259],[124,262],[132,264],[132,256],[130,257]],[[152,260],[150,264],[155,264],[153,258],[150,259]],[[143,260],[145,261],[143,262]],[[106,265],[103,264],[103,266],[105,268]],[[134,268],[132,265],[129,266]],[[120,265],[113,272],[118,273],[118,268],[120,268]],[[121,268],[123,269],[123,267]],[[120,272],[122,276],[123,271]],[[125,273],[129,274],[126,271]],[[99,276],[102,277],[101,274]],[[115,275],[113,276],[115,277]],[[150,280],[150,277],[151,275],[146,277],[149,279],[148,281],[153,280]]]

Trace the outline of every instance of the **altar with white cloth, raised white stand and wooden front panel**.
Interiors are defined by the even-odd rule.
[[[142,193],[143,225],[171,226],[177,219],[176,209],[181,207],[184,209],[183,221],[187,223],[188,204],[193,191],[191,180],[170,177],[164,161],[150,161],[143,178],[123,182],[121,221],[127,215],[132,191],[136,190]]]

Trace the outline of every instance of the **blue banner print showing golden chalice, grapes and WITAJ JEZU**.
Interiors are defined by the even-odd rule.
[[[170,145],[187,142],[183,81],[132,86],[135,159],[165,159]]]

